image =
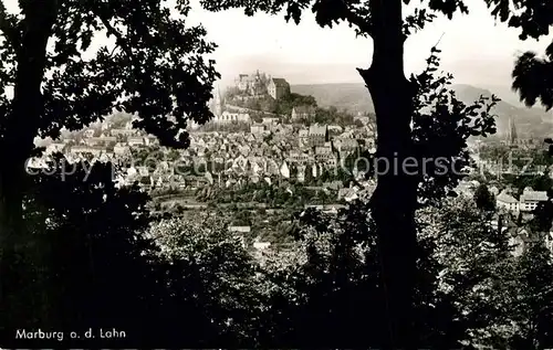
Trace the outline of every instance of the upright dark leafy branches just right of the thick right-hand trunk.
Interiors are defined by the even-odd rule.
[[[422,203],[437,204],[450,194],[472,163],[467,140],[495,132],[492,108],[498,98],[481,96],[472,105],[457,99],[450,74],[436,76],[439,50],[432,49],[427,68],[411,82],[418,87],[413,116],[413,139],[417,157]]]

